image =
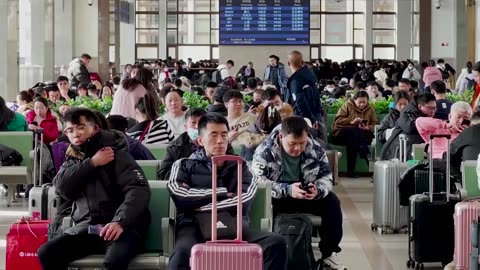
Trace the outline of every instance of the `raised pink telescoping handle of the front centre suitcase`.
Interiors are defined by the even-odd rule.
[[[237,162],[237,239],[242,241],[242,165],[243,158],[239,156],[214,156],[212,157],[212,241],[217,241],[217,164],[221,161]]]

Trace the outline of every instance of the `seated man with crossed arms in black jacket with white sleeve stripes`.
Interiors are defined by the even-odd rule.
[[[169,258],[168,269],[190,269],[189,258],[193,245],[205,242],[200,233],[199,216],[212,210],[212,162],[213,156],[225,155],[228,146],[229,125],[227,119],[217,113],[207,113],[198,123],[202,149],[189,159],[180,159],[173,164],[168,190],[177,207],[175,249]],[[287,243],[277,234],[255,232],[248,228],[249,209],[257,190],[257,177],[250,165],[243,162],[241,185],[243,189],[243,240],[257,243],[263,249],[265,270],[282,270],[287,266]],[[238,202],[237,163],[218,164],[217,200],[219,216],[236,216]],[[219,219],[220,221],[220,219]],[[218,224],[218,223],[217,223]],[[220,221],[220,224],[223,224]],[[207,230],[210,230],[208,228]]]

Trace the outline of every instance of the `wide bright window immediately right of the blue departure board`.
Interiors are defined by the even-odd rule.
[[[365,1],[310,2],[312,59],[321,57],[333,61],[345,61],[363,58]]]

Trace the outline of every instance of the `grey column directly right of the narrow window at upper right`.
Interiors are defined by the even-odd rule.
[[[395,59],[410,59],[412,49],[412,3],[397,1],[397,55]]]

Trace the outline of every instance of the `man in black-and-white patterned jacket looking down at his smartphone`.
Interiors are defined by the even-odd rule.
[[[257,147],[253,171],[260,181],[272,181],[272,205],[277,214],[302,213],[322,217],[319,248],[331,269],[343,269],[337,257],[342,240],[340,201],[332,192],[326,152],[308,135],[307,122],[287,117]]]

